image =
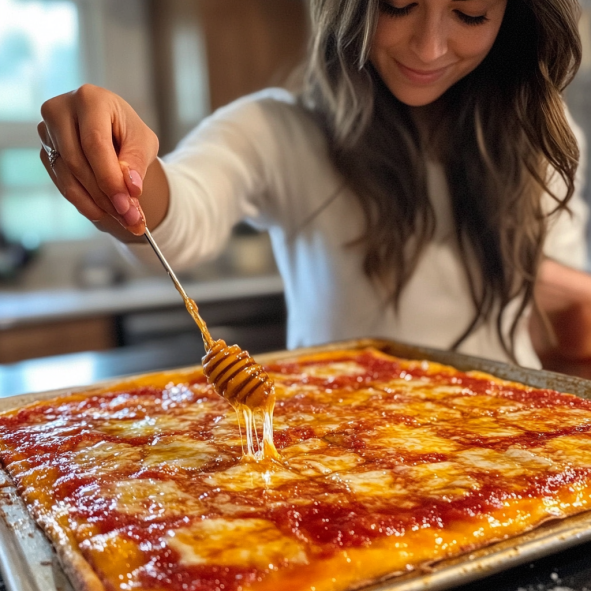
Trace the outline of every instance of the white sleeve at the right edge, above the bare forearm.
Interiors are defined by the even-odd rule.
[[[587,142],[582,129],[574,122],[567,111],[567,119],[571,125],[579,145],[580,159],[575,179],[575,192],[568,204],[568,210],[550,217],[548,235],[544,244],[544,254],[555,261],[584,270],[587,267],[587,220],[588,205],[584,198],[586,182]],[[566,190],[564,181],[558,174],[551,179],[551,188],[557,195]],[[552,211],[556,202],[545,195],[546,211]]]

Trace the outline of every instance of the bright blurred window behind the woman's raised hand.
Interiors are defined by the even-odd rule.
[[[49,179],[36,131],[41,103],[84,79],[79,13],[73,0],[0,0],[0,231],[27,246],[96,232]]]

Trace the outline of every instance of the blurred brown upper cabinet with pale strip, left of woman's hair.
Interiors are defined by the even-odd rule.
[[[151,0],[161,153],[240,96],[286,86],[308,42],[303,0]]]

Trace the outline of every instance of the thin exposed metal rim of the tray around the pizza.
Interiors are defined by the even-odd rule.
[[[549,388],[591,399],[591,380],[545,370],[524,368],[455,351],[409,345],[383,338],[349,339],[312,347],[274,351],[256,355],[256,361],[265,365],[295,356],[345,349],[358,350],[369,347],[397,357],[434,361],[443,365],[451,365],[460,371],[481,371],[503,380],[521,382],[536,388]],[[178,369],[101,380],[89,385],[0,398],[0,412],[71,394],[95,391],[98,393],[111,387],[124,388],[126,384],[133,385],[138,378],[145,380],[149,379],[150,376],[159,376],[160,379],[170,376],[171,379],[175,378],[178,381],[183,376],[189,376],[199,371],[200,367],[200,364],[183,366]],[[4,469],[0,468],[0,470],[11,482]],[[4,488],[9,489],[10,487],[5,486]],[[14,492],[16,494],[15,490]],[[7,591],[59,591],[57,587],[54,589],[41,589],[36,583],[32,582],[30,576],[22,574],[31,572],[35,566],[35,561],[26,552],[26,549],[21,546],[22,540],[17,539],[14,527],[7,523],[7,517],[2,509],[3,499],[4,495],[0,496],[0,572],[3,575]],[[10,503],[13,504],[14,499]],[[47,545],[55,554],[53,545],[45,536],[45,533],[37,526],[20,496],[18,496],[18,503],[19,509],[23,513],[22,518],[27,520],[29,525],[33,523],[34,527],[39,529]],[[591,540],[591,511],[586,511],[567,518],[548,520],[518,536],[494,542],[476,551],[466,552],[407,574],[390,575],[379,581],[362,583],[356,586],[355,589],[357,591],[444,591],[583,544],[589,540]],[[16,564],[15,560],[17,561]],[[351,591],[353,591],[353,588],[351,588]]]

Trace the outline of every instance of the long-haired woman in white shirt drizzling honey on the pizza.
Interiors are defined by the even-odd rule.
[[[60,191],[125,242],[121,226],[143,233],[141,204],[177,267],[219,252],[240,219],[268,229],[292,347],[385,336],[536,366],[533,336],[548,364],[584,364],[591,287],[571,267],[585,212],[560,96],[580,61],[576,2],[313,0],[311,13],[301,96],[241,99],[165,163],[108,91],[46,102],[41,157]],[[567,359],[560,314],[581,333]]]

